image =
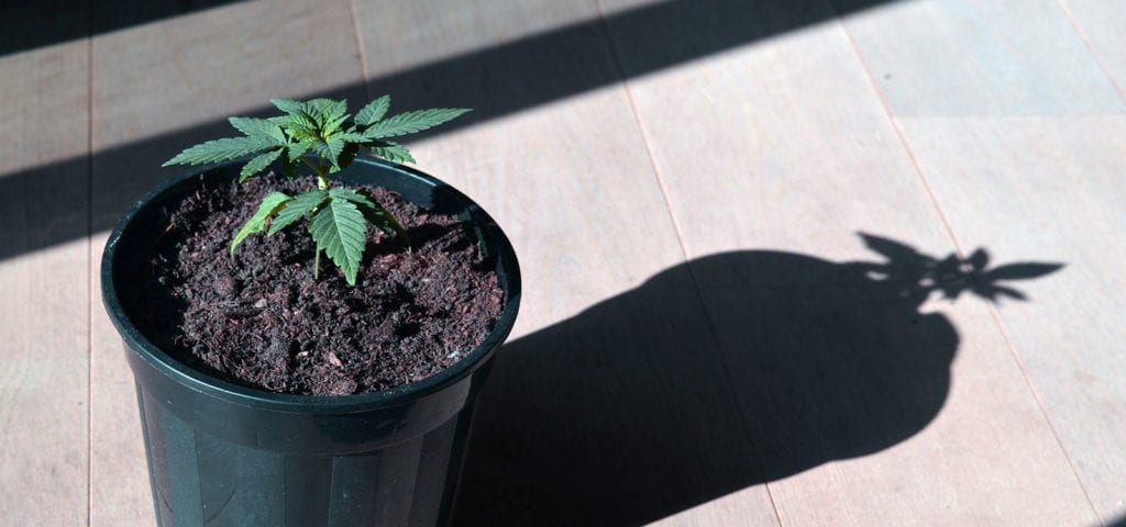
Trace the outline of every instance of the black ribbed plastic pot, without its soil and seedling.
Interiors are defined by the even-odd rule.
[[[232,181],[238,172],[239,166],[221,166],[164,184],[125,215],[102,255],[102,300],[136,380],[158,524],[447,524],[474,397],[519,307],[520,273],[511,245],[492,218],[441,181],[357,158],[340,174],[346,182],[378,184],[473,221],[504,290],[500,321],[454,366],[393,390],[313,397],[235,385],[157,348],[131,321],[119,285],[131,280],[131,262],[168,225],[167,203],[204,180]]]

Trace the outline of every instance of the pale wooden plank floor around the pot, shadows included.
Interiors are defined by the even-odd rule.
[[[411,146],[526,281],[456,525],[1126,525],[1114,0],[36,3],[0,7],[0,525],[153,523],[98,271],[160,163],[385,92],[476,109]]]

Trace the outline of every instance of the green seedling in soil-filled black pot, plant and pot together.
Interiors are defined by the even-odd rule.
[[[272,102],[166,163],[205,166],[137,201],[102,256],[158,523],[444,524],[519,270],[388,138],[467,110]]]

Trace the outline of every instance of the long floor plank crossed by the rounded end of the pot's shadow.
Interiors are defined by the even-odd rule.
[[[927,301],[954,245],[830,6],[683,10],[610,22],[627,75],[772,37],[629,85],[780,523],[1092,523],[989,310]]]

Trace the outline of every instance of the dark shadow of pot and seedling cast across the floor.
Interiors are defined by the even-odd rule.
[[[692,260],[507,344],[477,401],[455,525],[656,520],[923,429],[959,337],[933,293],[1024,299],[989,269],[860,235],[884,262]]]

